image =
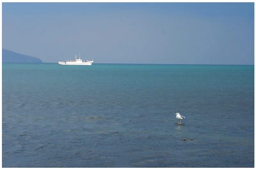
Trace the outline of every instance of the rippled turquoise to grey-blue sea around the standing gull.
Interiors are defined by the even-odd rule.
[[[3,63],[2,90],[3,167],[254,167],[254,66]]]

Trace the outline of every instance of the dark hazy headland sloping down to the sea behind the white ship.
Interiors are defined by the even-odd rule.
[[[39,58],[19,54],[2,48],[2,62],[7,63],[43,63]]]

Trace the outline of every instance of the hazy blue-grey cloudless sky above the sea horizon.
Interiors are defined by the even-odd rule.
[[[2,48],[47,63],[254,64],[254,3],[2,3]]]

